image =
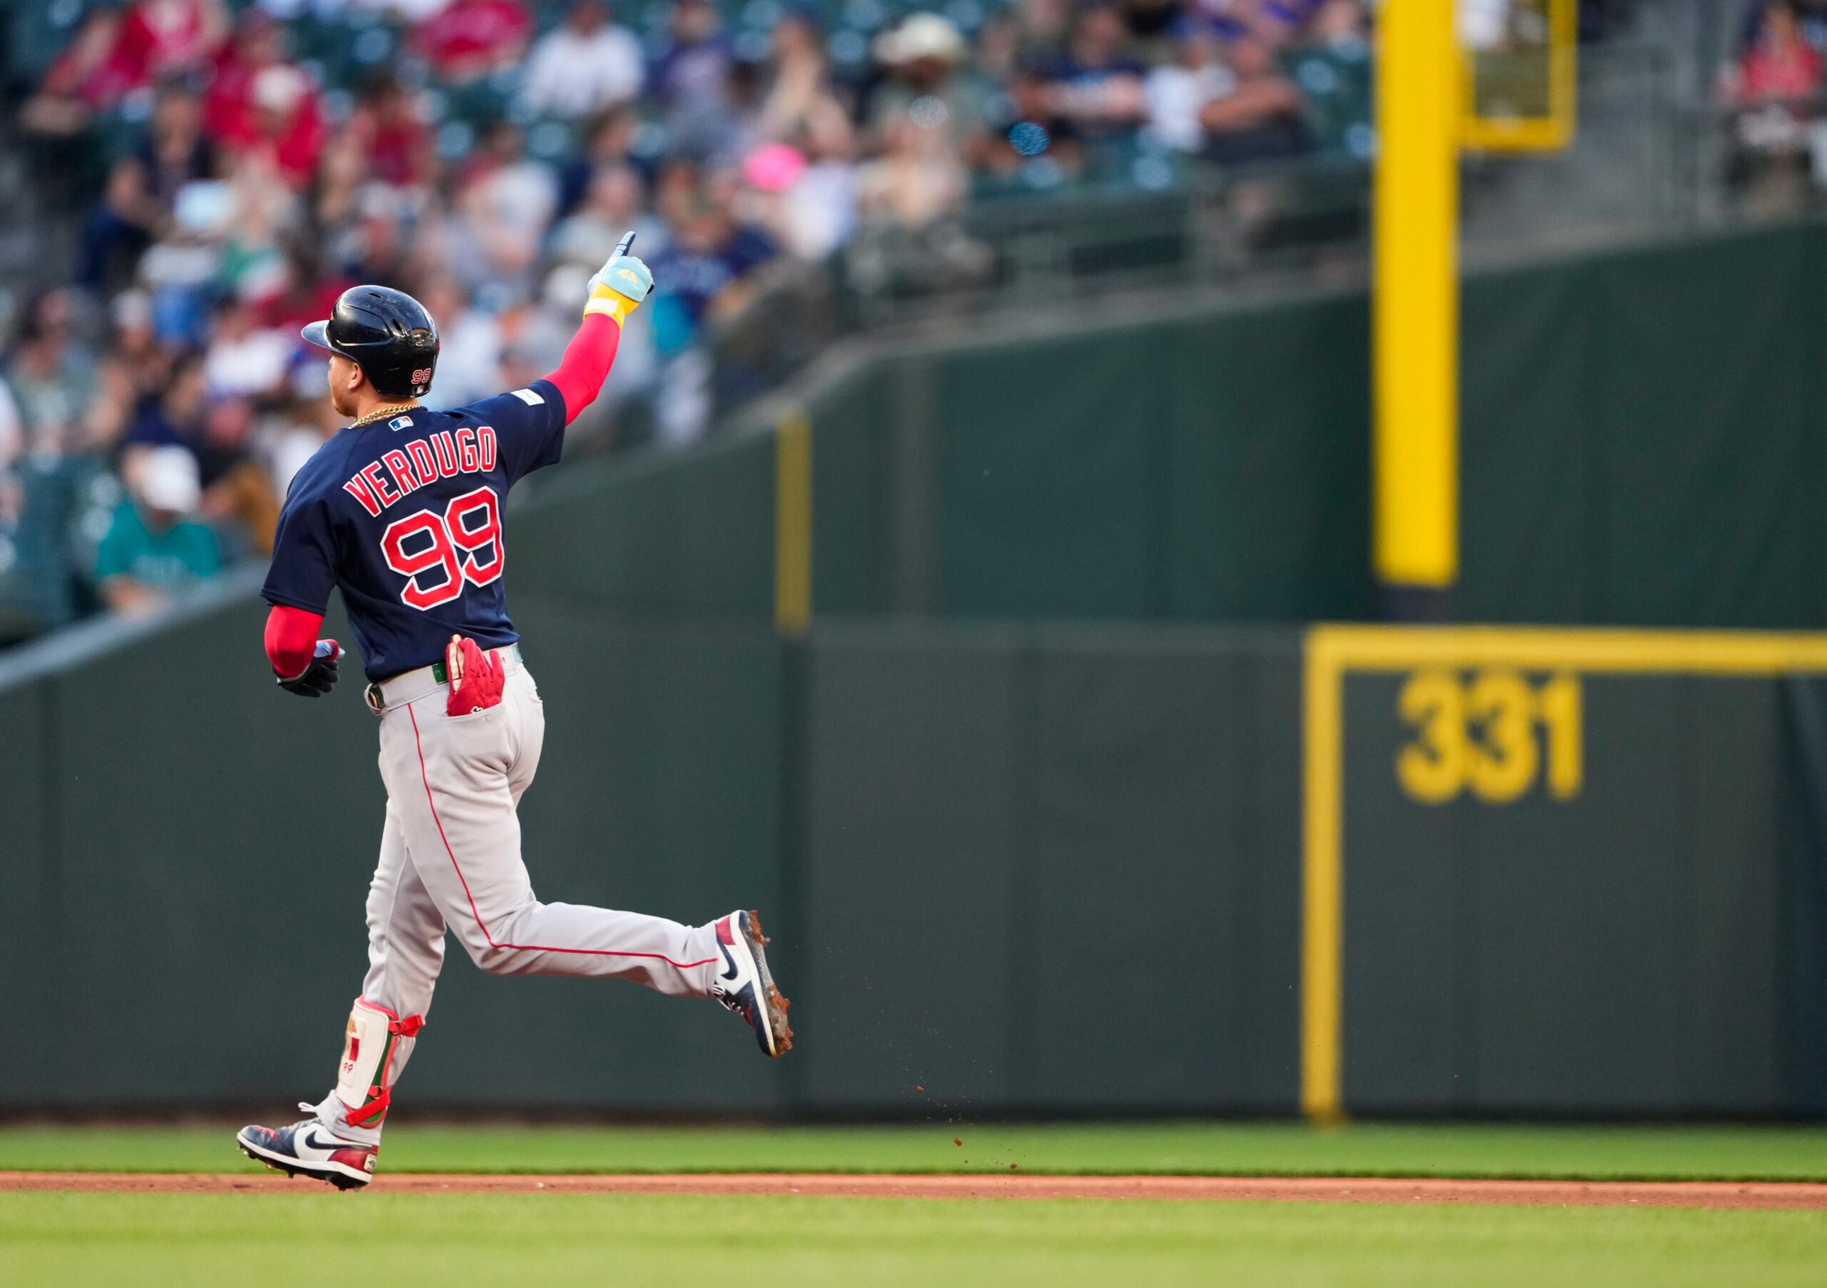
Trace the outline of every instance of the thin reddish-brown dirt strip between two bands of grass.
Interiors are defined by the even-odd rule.
[[[80,1193],[334,1193],[248,1173],[0,1171],[4,1189]],[[380,1175],[385,1195],[811,1195],[835,1198],[1189,1198],[1573,1208],[1827,1209],[1827,1184],[1725,1180],[1442,1180],[1387,1177],[959,1177],[839,1173]],[[351,1202],[358,1202],[351,1198]]]

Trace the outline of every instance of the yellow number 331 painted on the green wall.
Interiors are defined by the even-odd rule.
[[[1418,670],[1396,702],[1414,742],[1396,753],[1396,780],[1416,800],[1445,804],[1465,787],[1491,804],[1526,795],[1547,762],[1557,800],[1580,793],[1580,680],[1558,674],[1540,689],[1516,670]],[[1537,740],[1542,729],[1546,747]]]

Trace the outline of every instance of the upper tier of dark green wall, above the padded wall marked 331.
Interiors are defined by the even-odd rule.
[[[857,351],[797,391],[813,610],[1374,618],[1367,327],[1339,290]],[[1827,227],[1474,272],[1462,351],[1456,619],[1827,627]],[[766,618],[771,407],[570,471],[517,577]]]

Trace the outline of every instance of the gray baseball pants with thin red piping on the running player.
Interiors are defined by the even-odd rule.
[[[446,687],[429,667],[387,681],[380,713],[387,824],[367,892],[362,998],[400,1018],[426,1014],[446,930],[493,976],[614,976],[663,994],[709,996],[718,963],[711,924],[533,895],[515,808],[539,767],[546,716],[526,667],[499,656],[501,703],[475,714],[446,713]],[[415,1045],[417,1038],[398,1040],[395,1080]],[[333,1089],[314,1111],[343,1140],[376,1144],[380,1125],[351,1125],[351,1107]]]

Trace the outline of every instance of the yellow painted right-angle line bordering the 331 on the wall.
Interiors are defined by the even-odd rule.
[[[1827,672],[1827,634],[1564,627],[1308,628],[1301,736],[1301,1113],[1345,1116],[1345,676],[1416,667],[1586,674]]]

